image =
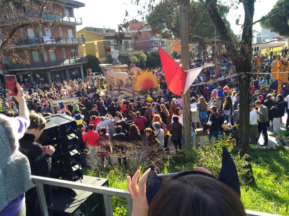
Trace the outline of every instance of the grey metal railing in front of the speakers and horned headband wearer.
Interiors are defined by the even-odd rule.
[[[167,176],[167,175],[168,174],[158,174],[158,176]],[[92,184],[83,184],[79,182],[47,178],[47,177],[41,177],[41,176],[35,176],[35,175],[31,175],[31,178],[36,186],[36,191],[37,191],[37,196],[39,199],[39,205],[40,205],[42,216],[48,216],[46,200],[45,200],[44,190],[43,190],[43,184],[103,194],[104,209],[105,209],[106,216],[113,216],[111,196],[118,196],[118,197],[126,198],[128,215],[129,216],[132,215],[132,199],[129,194],[129,191],[127,190],[120,190],[120,189],[111,188],[111,187],[96,186]],[[251,211],[251,210],[246,210],[246,213],[248,216],[280,216],[277,214],[269,214],[265,212]]]

